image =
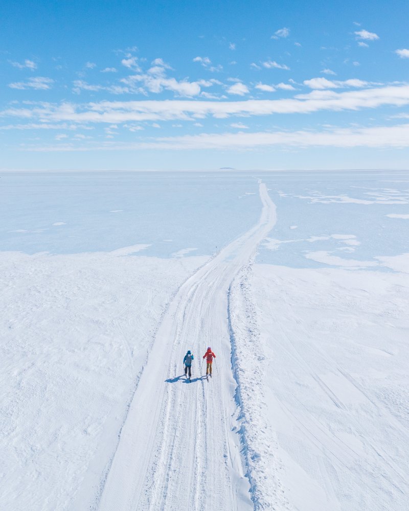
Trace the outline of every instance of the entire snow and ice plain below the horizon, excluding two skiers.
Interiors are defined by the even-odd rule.
[[[0,185],[2,508],[407,510],[409,173]]]

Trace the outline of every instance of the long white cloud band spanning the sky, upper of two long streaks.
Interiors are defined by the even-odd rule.
[[[237,84],[235,84],[237,85]],[[233,85],[234,86],[234,85]],[[276,100],[245,101],[100,101],[88,104],[62,102],[13,105],[0,111],[2,118],[20,118],[30,122],[123,124],[144,121],[199,121],[207,117],[226,119],[273,115],[276,113],[312,113],[317,111],[360,110],[380,106],[409,105],[409,84],[388,85],[358,90],[312,90],[308,94]],[[409,138],[408,138],[409,140]]]

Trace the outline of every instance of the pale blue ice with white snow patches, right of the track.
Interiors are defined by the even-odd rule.
[[[387,271],[376,258],[407,251],[408,228],[397,220],[409,211],[407,175],[403,171],[269,174],[266,183],[279,213],[270,234],[274,243],[267,240],[259,248],[257,262],[293,268],[378,266]]]

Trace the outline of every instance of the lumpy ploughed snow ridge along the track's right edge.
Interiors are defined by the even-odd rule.
[[[235,401],[241,422],[238,430],[241,455],[255,511],[271,509],[272,505],[280,505],[279,509],[290,509],[278,478],[282,463],[274,452],[278,449],[277,440],[265,421],[263,375],[266,357],[260,344],[260,331],[251,296],[251,276],[252,262],[242,269],[228,292],[231,363],[237,383]]]

